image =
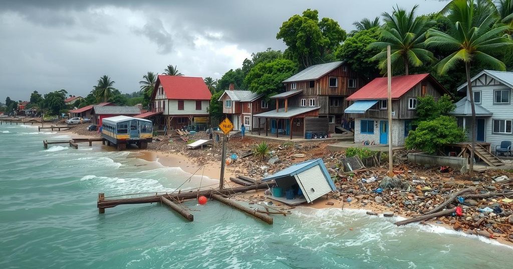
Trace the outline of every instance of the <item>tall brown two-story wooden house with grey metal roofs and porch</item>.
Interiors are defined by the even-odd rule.
[[[345,98],[360,88],[360,78],[344,61],[310,66],[285,79],[286,91],[270,98],[276,109],[257,115],[271,133],[305,136],[335,132],[346,108]]]

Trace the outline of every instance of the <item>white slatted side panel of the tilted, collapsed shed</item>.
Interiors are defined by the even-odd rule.
[[[296,178],[309,203],[331,192],[331,187],[319,165],[299,173]]]

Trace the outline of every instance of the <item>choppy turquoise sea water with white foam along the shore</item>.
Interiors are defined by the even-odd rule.
[[[194,222],[159,204],[100,215],[98,192],[172,191],[190,174],[99,145],[43,149],[66,138],[0,126],[0,268],[510,268],[509,246],[358,210],[302,208],[273,225],[214,201],[186,203]]]

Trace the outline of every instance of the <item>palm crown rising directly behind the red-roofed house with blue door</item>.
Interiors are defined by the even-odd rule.
[[[384,12],[385,25],[380,30],[379,42],[369,45],[369,48],[379,48],[382,51],[372,57],[381,60],[379,67],[386,70],[386,47],[391,48],[391,62],[394,67],[404,65],[404,73],[408,75],[409,65],[418,67],[434,59],[433,53],[424,47],[425,33],[435,24],[426,16],[415,16],[417,5],[409,13],[399,7],[392,14]]]

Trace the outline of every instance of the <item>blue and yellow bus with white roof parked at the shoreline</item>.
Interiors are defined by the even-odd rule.
[[[126,149],[127,144],[136,144],[146,149],[153,139],[151,120],[128,116],[103,118],[102,136],[107,143],[116,144],[118,150]]]

